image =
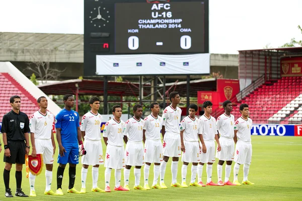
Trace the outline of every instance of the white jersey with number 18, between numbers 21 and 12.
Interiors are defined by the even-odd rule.
[[[124,136],[128,137],[129,141],[142,142],[143,119],[129,118],[126,121]]]

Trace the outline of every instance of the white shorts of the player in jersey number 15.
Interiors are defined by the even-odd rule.
[[[184,141],[186,151],[183,153],[181,157],[182,162],[187,163],[199,163],[200,156],[199,156],[199,143],[198,141],[190,142]]]

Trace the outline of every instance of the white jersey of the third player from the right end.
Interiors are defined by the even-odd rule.
[[[199,118],[198,133],[202,134],[203,140],[214,140],[215,134],[217,134],[215,118],[212,116],[207,118],[205,115],[202,115]]]

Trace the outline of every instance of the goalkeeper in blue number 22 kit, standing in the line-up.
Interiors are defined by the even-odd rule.
[[[71,94],[66,94],[63,97],[63,101],[65,107],[55,117],[56,138],[59,146],[56,193],[59,195],[63,195],[62,179],[67,163],[69,163],[69,186],[67,192],[81,193],[73,186],[75,167],[79,163],[79,149],[84,149],[79,113],[71,109],[74,106],[74,98]]]

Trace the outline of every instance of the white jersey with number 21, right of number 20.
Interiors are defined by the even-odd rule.
[[[114,118],[107,121],[103,130],[103,137],[108,138],[107,143],[112,146],[124,146],[124,128],[123,120],[116,121]]]

